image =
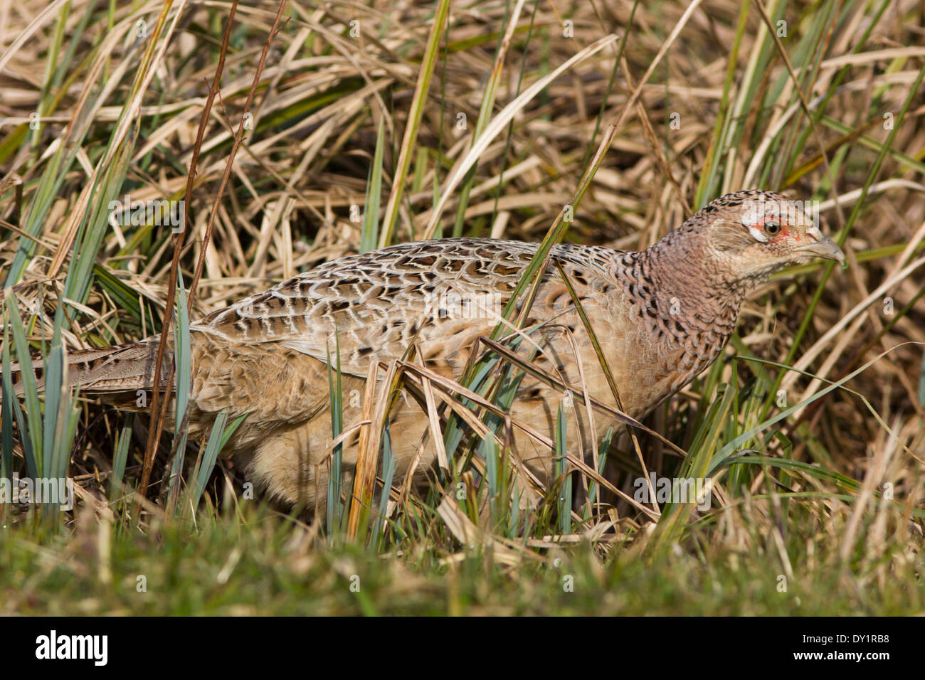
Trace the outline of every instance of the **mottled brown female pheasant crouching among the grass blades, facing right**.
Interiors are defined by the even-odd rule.
[[[191,325],[193,434],[216,414],[246,414],[225,454],[273,497],[324,512],[331,443],[327,361],[339,346],[344,427],[361,418],[371,362],[388,364],[416,343],[427,367],[459,379],[479,336],[499,321],[536,244],[441,239],[342,257],[235,303]],[[771,192],[722,196],[641,252],[562,244],[550,259],[573,284],[623,401],[641,418],[722,352],[748,291],[785,266],[845,255],[820,233],[801,204]],[[465,310],[462,310],[462,306]],[[555,266],[547,266],[519,352],[563,383],[586,385],[613,405],[586,329]],[[335,342],[335,333],[337,342]],[[70,376],[84,392],[135,403],[152,389],[157,338],[73,352]],[[330,352],[330,353],[329,353]],[[551,436],[561,391],[533,377],[518,387],[515,421]],[[611,426],[589,423],[575,403],[570,450],[587,450]],[[593,432],[593,437],[592,437]],[[435,460],[425,411],[399,400],[390,414],[396,479],[416,454]],[[553,475],[549,450],[515,429],[513,450],[542,480]],[[355,440],[345,442],[349,480]],[[324,464],[323,464],[324,463]]]

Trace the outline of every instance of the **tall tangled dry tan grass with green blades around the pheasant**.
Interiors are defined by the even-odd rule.
[[[712,471],[709,513],[665,506],[647,514],[615,501],[574,514],[573,533],[561,541],[588,540],[598,558],[618,564],[680,542],[685,559],[720,561],[731,573],[739,560],[750,564],[750,554],[770,557],[772,571],[788,579],[837,567],[858,587],[880,584],[881,593],[888,579],[912,584],[922,567],[925,488],[922,6],[454,4],[409,136],[437,3],[371,5],[287,4],[254,91],[253,130],[243,130],[203,246],[278,8],[238,6],[221,90],[205,121],[188,247],[179,255],[189,282],[205,248],[191,317],[356,252],[364,223],[356,211],[351,218],[351,206],[362,214],[370,200],[380,129],[380,212],[387,222],[394,214],[395,229],[390,238],[388,230],[367,233],[366,242],[411,241],[434,233],[429,225],[438,235],[461,229],[541,241],[616,124],[567,240],[644,248],[716,195],[761,188],[819,200],[823,230],[844,241],[850,266],[805,266],[764,286],[746,303],[725,360],[648,417],[648,427],[688,456],[679,463],[671,447],[640,433],[646,469]],[[24,320],[33,349],[54,336],[62,298],[68,347],[159,332],[172,288],[170,229],[107,228],[105,205],[125,193],[142,201],[183,197],[228,11],[224,2],[120,4],[113,14],[87,0],[0,4],[0,277],[15,287],[19,309],[31,312]],[[504,43],[504,19],[514,12]],[[785,21],[785,36],[769,36],[763,12],[778,29]],[[508,109],[510,125],[492,127],[519,93],[611,33],[621,40],[598,45]],[[41,125],[32,129],[36,116]],[[497,134],[468,179],[463,159],[475,130]],[[407,180],[399,186],[402,159]],[[129,486],[141,476],[142,420],[127,440]],[[724,446],[759,425],[734,447],[756,451],[753,460],[717,466]],[[81,404],[69,474],[81,502],[100,516],[128,512],[106,497],[123,427],[123,414]],[[22,468],[24,433],[17,432],[12,464]],[[169,442],[154,481],[164,476]],[[462,478],[479,487],[477,456],[474,465]],[[642,470],[628,440],[615,442],[611,468],[608,478],[632,496]],[[575,484],[594,483],[593,471],[577,469]],[[235,471],[223,471],[206,495],[210,508],[216,502],[230,512]],[[884,498],[887,488],[894,501]],[[147,493],[157,495],[157,488]],[[532,563],[552,554],[543,536],[560,533],[553,501],[524,530],[505,525],[510,508],[487,526],[476,525],[475,506],[466,514],[441,505],[438,493],[400,500],[383,545],[404,555],[432,550],[453,563],[456,539],[474,531],[497,549],[499,563]],[[146,507],[149,525],[161,511]],[[900,599],[920,612],[920,588],[910,588],[916,594]]]

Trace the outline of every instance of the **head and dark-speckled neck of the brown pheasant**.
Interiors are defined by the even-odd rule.
[[[803,204],[779,193],[734,192],[648,250],[624,254],[618,280],[648,335],[660,347],[684,349],[673,391],[719,356],[749,291],[813,257],[845,263]]]

